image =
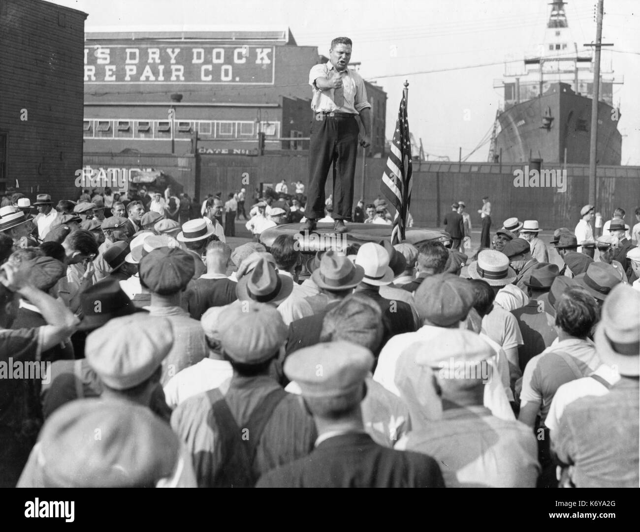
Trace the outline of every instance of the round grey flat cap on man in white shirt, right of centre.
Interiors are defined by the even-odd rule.
[[[424,279],[414,299],[420,318],[449,327],[467,317],[474,304],[474,292],[467,279],[443,273]]]

